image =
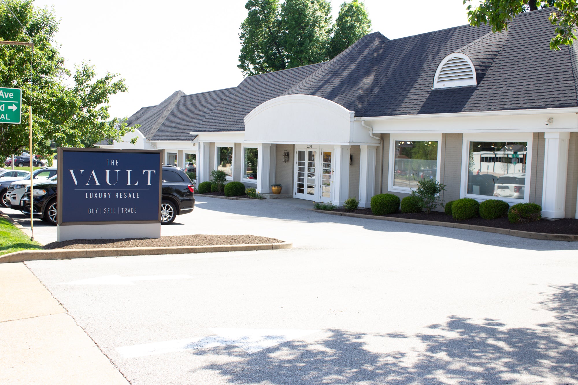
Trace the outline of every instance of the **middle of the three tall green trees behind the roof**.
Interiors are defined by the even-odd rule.
[[[287,68],[325,60],[331,35],[331,3],[286,0],[280,14]]]

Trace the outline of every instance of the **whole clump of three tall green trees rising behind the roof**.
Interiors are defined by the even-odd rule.
[[[371,28],[358,0],[342,3],[334,25],[327,0],[248,0],[245,8],[238,67],[246,76],[329,60]]]

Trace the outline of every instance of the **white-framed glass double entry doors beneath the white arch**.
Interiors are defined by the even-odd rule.
[[[307,146],[295,151],[295,198],[330,202],[333,188],[333,152]]]

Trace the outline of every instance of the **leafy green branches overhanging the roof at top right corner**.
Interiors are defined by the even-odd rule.
[[[550,23],[556,25],[556,35],[550,40],[550,49],[559,50],[561,45],[572,45],[576,39],[578,5],[576,0],[484,0],[473,5],[474,0],[463,0],[468,4],[468,19],[471,25],[479,27],[489,24],[492,31],[506,31],[508,24],[519,13],[553,7]],[[476,0],[477,4],[479,0]]]

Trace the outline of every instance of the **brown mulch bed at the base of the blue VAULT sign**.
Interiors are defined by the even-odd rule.
[[[110,249],[116,247],[165,247],[165,246],[220,246],[252,245],[255,243],[280,243],[282,240],[257,235],[170,235],[161,238],[125,239],[71,239],[52,242],[45,250],[54,249]]]

